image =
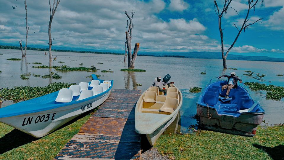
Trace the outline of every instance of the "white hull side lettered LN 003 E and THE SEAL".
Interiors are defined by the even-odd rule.
[[[109,97],[110,92],[111,90],[100,97],[81,103],[36,113],[0,118],[0,122],[32,135],[33,137],[43,137],[77,116],[101,105]]]

